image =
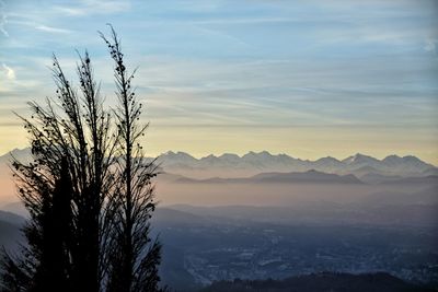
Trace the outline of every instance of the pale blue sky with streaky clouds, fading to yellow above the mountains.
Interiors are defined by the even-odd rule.
[[[87,48],[108,105],[112,23],[150,122],[150,155],[267,150],[301,159],[416,155],[438,164],[438,1],[0,0],[0,154],[13,112],[74,82]]]

